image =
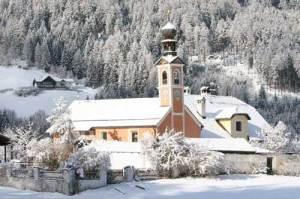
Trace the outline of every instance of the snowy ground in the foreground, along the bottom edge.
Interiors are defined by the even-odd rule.
[[[137,188],[144,187],[145,190]],[[82,192],[76,196],[57,193],[37,193],[0,187],[5,199],[300,199],[300,177],[231,175],[212,179],[183,178],[122,183]]]

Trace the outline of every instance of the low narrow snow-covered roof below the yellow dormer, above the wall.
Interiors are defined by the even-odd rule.
[[[256,150],[244,138],[188,138],[190,143],[203,149],[221,152],[255,153]]]

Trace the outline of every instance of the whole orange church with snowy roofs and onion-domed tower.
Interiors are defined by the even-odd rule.
[[[185,92],[177,29],[167,23],[161,33],[163,54],[155,63],[159,96],[74,101],[69,107],[74,131],[88,141],[139,142],[146,134],[157,136],[170,129],[187,138],[259,137],[268,123],[250,105],[207,89],[199,95]]]

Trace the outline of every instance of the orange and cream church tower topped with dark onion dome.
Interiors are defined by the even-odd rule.
[[[160,106],[171,108],[171,128],[184,133],[184,63],[176,52],[177,31],[173,24],[167,23],[161,32],[163,56],[156,62]]]

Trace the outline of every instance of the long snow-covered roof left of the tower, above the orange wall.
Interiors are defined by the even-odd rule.
[[[75,130],[92,127],[156,126],[169,112],[158,98],[74,101],[70,105]]]

